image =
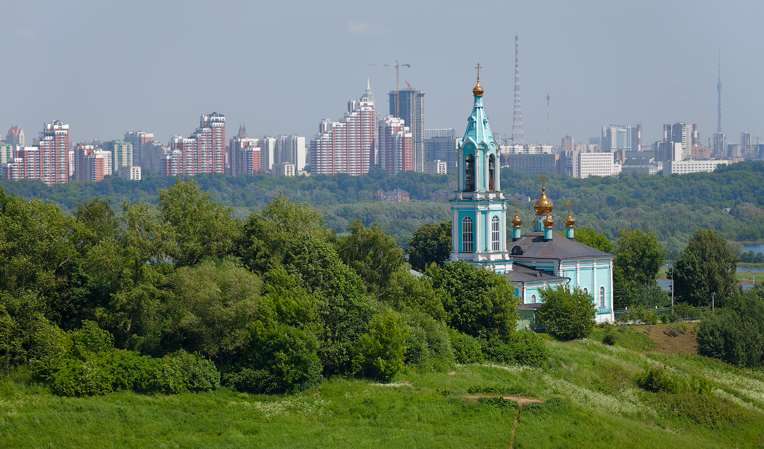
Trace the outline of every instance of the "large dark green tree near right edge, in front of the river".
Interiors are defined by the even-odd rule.
[[[690,239],[671,272],[675,295],[694,306],[723,306],[737,289],[737,257],[713,229],[699,229]]]

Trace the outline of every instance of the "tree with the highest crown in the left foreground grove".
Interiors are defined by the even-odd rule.
[[[160,190],[159,209],[175,234],[176,245],[169,255],[177,265],[193,266],[207,257],[231,254],[239,233],[231,208],[212,201],[196,181],[179,177],[170,188]]]

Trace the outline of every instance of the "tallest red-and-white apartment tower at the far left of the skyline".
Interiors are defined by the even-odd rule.
[[[46,123],[37,148],[38,179],[48,185],[69,181],[69,125],[60,120]]]

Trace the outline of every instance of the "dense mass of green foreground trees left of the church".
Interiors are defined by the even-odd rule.
[[[336,239],[283,195],[238,220],[175,181],[120,216],[97,198],[63,213],[0,191],[5,373],[60,395],[283,393],[404,364],[545,363],[501,275],[458,262],[417,277],[377,225]]]

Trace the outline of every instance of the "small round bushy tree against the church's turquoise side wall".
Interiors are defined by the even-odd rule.
[[[552,337],[567,341],[589,336],[597,314],[589,294],[579,287],[570,291],[563,285],[544,288],[539,294],[544,304],[537,316]]]

